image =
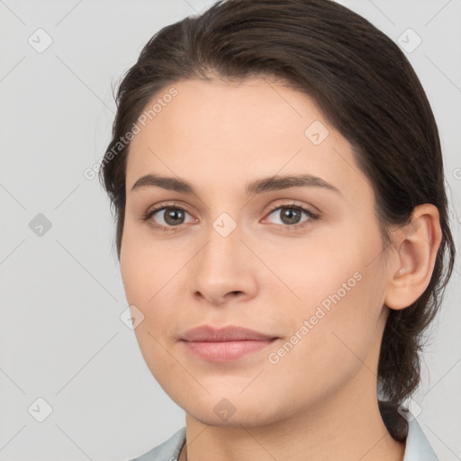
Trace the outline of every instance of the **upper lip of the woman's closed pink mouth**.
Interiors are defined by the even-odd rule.
[[[230,325],[221,329],[214,329],[209,325],[201,325],[192,330],[187,330],[182,335],[184,341],[243,341],[275,339],[275,336],[249,330],[248,328]]]

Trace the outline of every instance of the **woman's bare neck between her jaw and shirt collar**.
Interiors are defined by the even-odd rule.
[[[212,426],[188,413],[185,420],[188,461],[337,461],[339,454],[342,461],[402,461],[405,448],[386,429],[375,392],[343,390],[328,402],[259,426]],[[185,450],[179,459],[185,461]]]

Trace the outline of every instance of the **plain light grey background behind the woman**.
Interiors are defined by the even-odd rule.
[[[110,140],[111,85],[158,29],[212,3],[0,0],[2,461],[123,460],[184,425],[120,319],[127,303],[109,202],[83,172]],[[394,41],[408,28],[420,36],[405,52],[438,120],[459,210],[461,0],[339,3]],[[459,252],[459,212],[453,230]],[[461,459],[460,272],[457,261],[414,398],[441,460]],[[38,398],[52,408],[42,422],[47,404]]]

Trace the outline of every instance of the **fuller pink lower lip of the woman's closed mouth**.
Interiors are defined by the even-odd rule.
[[[183,341],[195,356],[212,362],[230,362],[267,348],[276,339],[240,341]]]

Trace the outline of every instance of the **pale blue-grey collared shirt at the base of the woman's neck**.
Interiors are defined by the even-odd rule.
[[[429,444],[428,438],[420,428],[420,424],[411,413],[408,421],[395,412],[393,404],[384,408],[380,404],[384,425],[394,438],[406,440],[405,454],[402,461],[439,461]],[[185,444],[185,427],[179,429],[167,441],[152,448],[148,453],[131,459],[131,461],[177,461],[177,457]]]

